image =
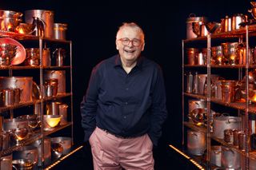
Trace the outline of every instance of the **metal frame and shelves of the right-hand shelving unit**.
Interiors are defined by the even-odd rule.
[[[219,34],[208,34],[206,37],[199,37],[199,38],[191,38],[186,39],[182,41],[182,151],[186,154],[190,155],[191,157],[194,157],[194,160],[198,162],[198,164],[201,164],[202,167],[206,169],[215,169],[216,166],[213,164],[210,164],[210,147],[214,144],[220,144],[222,146],[225,146],[226,148],[232,149],[234,152],[238,152],[238,154],[241,156],[241,168],[242,169],[251,169],[251,166],[255,165],[256,161],[256,152],[250,151],[250,132],[249,132],[249,115],[256,114],[256,105],[250,104],[249,101],[249,71],[250,69],[255,69],[256,64],[254,61],[254,65],[249,64],[249,52],[248,49],[250,47],[249,42],[254,41],[250,40],[250,38],[254,38],[256,36],[256,26],[245,26],[242,29],[238,30],[232,30],[230,32],[224,32]],[[235,40],[235,41],[234,41]],[[246,64],[244,65],[212,65],[210,62],[210,47],[213,43],[220,44],[221,42],[244,42],[246,44]],[[255,42],[254,42],[255,44]],[[206,65],[188,65],[186,62],[186,48],[190,47],[197,47],[199,48],[207,48],[207,60]],[[255,50],[254,50],[255,53]],[[206,85],[207,85],[207,95],[200,95],[195,93],[186,93],[186,76],[185,74],[188,71],[197,71],[197,72],[203,72],[207,75],[207,77],[211,77],[211,74],[213,70],[222,75],[224,72],[223,70],[237,70],[236,79],[242,80],[242,77],[246,77],[246,98],[245,101],[235,101],[231,103],[224,102],[220,99],[214,98],[211,96],[211,82],[210,78],[207,78]],[[234,76],[234,75],[233,75]],[[206,125],[195,125],[193,122],[186,121],[186,117],[188,114],[188,101],[189,99],[195,99],[195,100],[204,100],[206,101],[206,109],[207,109],[207,117]],[[245,140],[246,146],[245,150],[241,150],[238,148],[238,146],[234,146],[233,144],[228,144],[223,139],[219,139],[217,137],[212,136],[212,132],[210,130],[211,123],[213,121],[211,109],[214,109],[215,105],[218,105],[222,107],[223,109],[235,109],[237,110],[237,113],[233,113],[237,115],[238,117],[242,117],[241,113],[244,113],[242,118],[242,125],[243,125],[243,131],[246,134]],[[205,132],[206,133],[206,152],[204,155],[199,156],[201,158],[198,159],[198,156],[193,156],[189,152],[187,152],[186,148],[186,130],[187,129],[193,129],[195,132]],[[220,167],[218,167],[220,168]],[[223,167],[222,167],[223,168]]]

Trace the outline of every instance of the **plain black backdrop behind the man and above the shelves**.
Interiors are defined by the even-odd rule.
[[[250,1],[82,1],[3,0],[0,9],[53,10],[54,22],[68,24],[66,39],[73,43],[74,140],[81,143],[79,105],[86,92],[90,70],[117,53],[115,34],[122,22],[137,22],[146,34],[143,54],[162,65],[166,80],[169,117],[160,144],[180,145],[182,140],[182,39],[186,38],[186,18],[194,13],[210,21],[232,14],[248,14]],[[251,17],[249,17],[251,18]]]

